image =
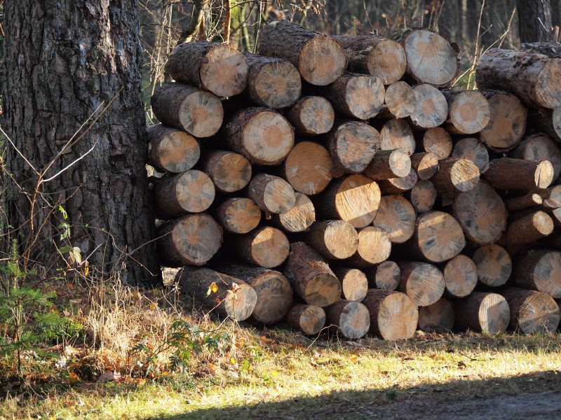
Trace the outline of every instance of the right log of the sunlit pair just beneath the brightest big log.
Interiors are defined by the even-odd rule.
[[[365,268],[387,260],[391,253],[391,241],[385,230],[368,226],[358,231],[356,253],[344,260],[349,267]]]

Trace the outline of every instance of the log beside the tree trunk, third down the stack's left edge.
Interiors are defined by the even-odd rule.
[[[198,141],[183,130],[151,125],[146,129],[148,163],[160,172],[180,174],[195,166],[201,157]]]

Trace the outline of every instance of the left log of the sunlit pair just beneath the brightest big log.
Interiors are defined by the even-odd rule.
[[[346,221],[321,221],[306,232],[306,243],[328,260],[342,260],[356,253],[358,233]]]

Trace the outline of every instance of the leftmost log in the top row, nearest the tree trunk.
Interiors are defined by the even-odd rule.
[[[168,55],[165,71],[178,82],[210,90],[219,97],[241,93],[248,83],[248,63],[225,43],[181,43]]]

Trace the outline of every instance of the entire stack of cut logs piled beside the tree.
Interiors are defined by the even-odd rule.
[[[545,48],[545,50],[543,50]],[[328,37],[177,46],[148,128],[163,265],[196,308],[344,337],[555,330],[561,55]],[[514,261],[514,262],[513,262]]]

